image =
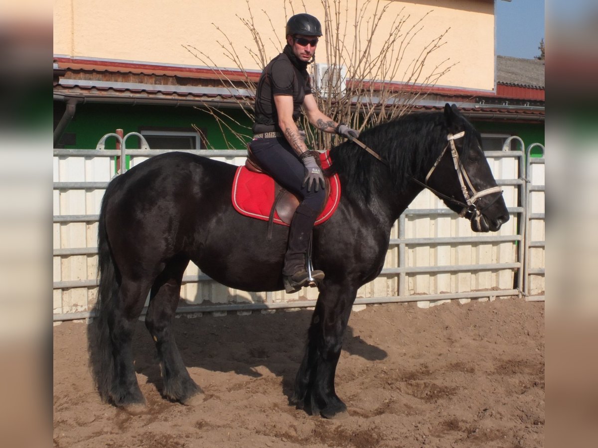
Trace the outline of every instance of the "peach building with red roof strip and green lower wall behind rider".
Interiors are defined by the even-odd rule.
[[[365,78],[391,89],[425,90],[416,109],[456,103],[490,149],[511,135],[544,143],[544,84],[529,84],[526,72],[523,78],[505,77],[501,64],[509,61],[495,55],[493,0],[304,4],[325,26],[319,66],[341,42],[343,65],[371,55],[378,69]],[[139,3],[130,1],[55,2],[54,147],[95,148],[100,137],[120,128],[141,133],[155,149],[243,149],[243,139],[234,136],[251,138],[251,116],[240,105],[251,109],[252,82],[264,61],[282,50],[288,17],[303,9],[288,0],[229,0],[224,8],[188,0],[176,7],[155,0],[143,5],[139,11]],[[398,26],[408,45],[396,42],[384,53]],[[429,51],[438,36],[438,48]],[[376,60],[378,54],[386,57]],[[422,54],[425,64],[414,79],[413,65]],[[396,69],[379,69],[393,63]],[[437,77],[438,67],[450,69]],[[359,76],[355,71],[346,73],[347,81]]]

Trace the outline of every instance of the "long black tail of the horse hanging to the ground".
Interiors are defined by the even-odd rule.
[[[90,355],[91,373],[102,400],[108,401],[112,381],[114,378],[114,358],[112,357],[112,338],[108,325],[109,318],[114,314],[118,300],[118,268],[112,258],[112,251],[106,232],[106,208],[117,184],[118,176],[109,183],[102,198],[100,217],[97,226],[97,258],[99,287],[97,301],[94,306],[94,319],[89,326],[88,350]]]

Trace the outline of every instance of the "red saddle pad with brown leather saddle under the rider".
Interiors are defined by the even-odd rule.
[[[295,209],[300,200],[291,192],[280,186],[258,164],[251,153],[247,151],[245,166],[237,168],[233,181],[232,201],[235,210],[244,216],[269,222],[268,239],[271,238],[272,225],[286,225],[291,223]],[[329,152],[316,153],[322,168],[331,165]],[[332,216],[340,200],[340,181],[338,174],[325,178],[327,200],[316,218],[315,225],[324,223]]]

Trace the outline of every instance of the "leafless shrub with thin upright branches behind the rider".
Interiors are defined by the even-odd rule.
[[[266,18],[270,29],[261,33],[249,0],[246,0],[246,4],[246,17],[238,14],[237,17],[251,33],[254,46],[245,45],[243,51],[251,55],[255,66],[261,70],[280,53],[285,45],[285,36],[281,36],[281,27],[279,24],[274,26],[265,10],[261,10],[261,14]],[[386,19],[390,19],[388,11],[391,2],[321,0],[321,4],[322,11],[306,11],[304,3],[302,11],[295,11],[289,0],[285,0],[283,7],[286,17],[309,12],[322,22],[324,38],[318,47],[317,56],[322,59],[322,53],[325,53],[325,62],[311,65],[312,88],[321,111],[337,122],[363,130],[401,116],[426,97],[431,87],[454,66],[449,58],[433,68],[426,65],[431,54],[446,43],[445,38],[450,28],[430,39],[422,48],[417,48],[418,51],[411,48],[416,36],[425,29],[426,19],[432,11],[415,19],[402,8],[388,22]],[[350,10],[350,7],[353,9]],[[242,109],[253,121],[259,72],[246,69],[236,50],[236,44],[220,26],[213,26],[221,35],[221,40],[217,42],[222,53],[230,60],[233,70],[216,66],[209,55],[193,45],[183,47],[203,65],[212,68],[221,85],[230,93],[233,105]],[[271,38],[264,40],[265,35],[275,36],[277,41]],[[407,56],[409,54],[416,56]],[[201,110],[213,116],[221,131],[224,134],[228,131],[237,143],[245,143],[251,139],[251,128],[243,127],[225,109],[206,102]],[[312,148],[329,148],[340,142],[338,136],[315,131],[306,118],[303,118],[301,126],[306,130],[307,143]],[[243,131],[239,132],[238,128],[243,128]],[[228,149],[238,147],[228,140],[226,145]]]

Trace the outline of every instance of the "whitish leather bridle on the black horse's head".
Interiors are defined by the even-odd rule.
[[[430,171],[428,171],[428,175],[426,176],[426,179],[424,180],[424,182],[420,182],[419,180],[417,180],[413,177],[411,179],[413,180],[413,182],[419,183],[419,185],[423,186],[424,188],[429,189],[429,191],[431,191],[438,197],[443,198],[446,201],[450,201],[450,202],[453,202],[454,204],[462,206],[463,209],[460,211],[459,216],[462,216],[462,217],[465,217],[466,219],[472,220],[475,217],[480,216],[483,211],[483,209],[480,209],[478,207],[478,205],[475,204],[475,202],[478,199],[480,199],[481,197],[487,196],[489,194],[501,193],[502,189],[499,186],[495,186],[495,187],[487,188],[485,190],[478,192],[475,190],[474,186],[471,185],[469,176],[467,175],[467,172],[465,171],[465,168],[463,167],[463,164],[461,163],[461,161],[459,159],[459,154],[457,154],[457,148],[454,145],[454,140],[460,139],[463,136],[465,136],[465,131],[461,131],[460,133],[454,134],[454,135],[449,134],[449,136],[447,136],[447,140],[449,140],[449,143],[447,143],[447,145],[443,149],[443,152],[441,152],[441,154],[438,156],[438,158],[434,162],[434,165],[432,165],[432,168],[430,169]],[[432,188],[431,186],[428,185],[428,180],[430,179],[430,176],[432,176],[432,173],[434,173],[434,170],[440,163],[441,159],[444,156],[444,153],[447,151],[447,148],[449,148],[449,145],[451,148],[451,156],[453,157],[454,169],[455,169],[455,171],[457,171],[457,177],[459,178],[459,183],[461,184],[461,191],[463,192],[463,197],[465,198],[466,203],[457,201],[455,198],[450,198],[447,195],[442,194],[441,192],[435,190],[434,188]],[[467,185],[465,185],[465,184],[467,184]],[[472,196],[469,195],[469,190],[468,190],[467,186],[469,186],[469,190],[471,190]],[[489,207],[498,198],[499,197],[497,196],[495,198],[495,200],[490,202],[490,204],[486,205],[486,207]],[[484,208],[486,208],[486,207],[484,207]]]

